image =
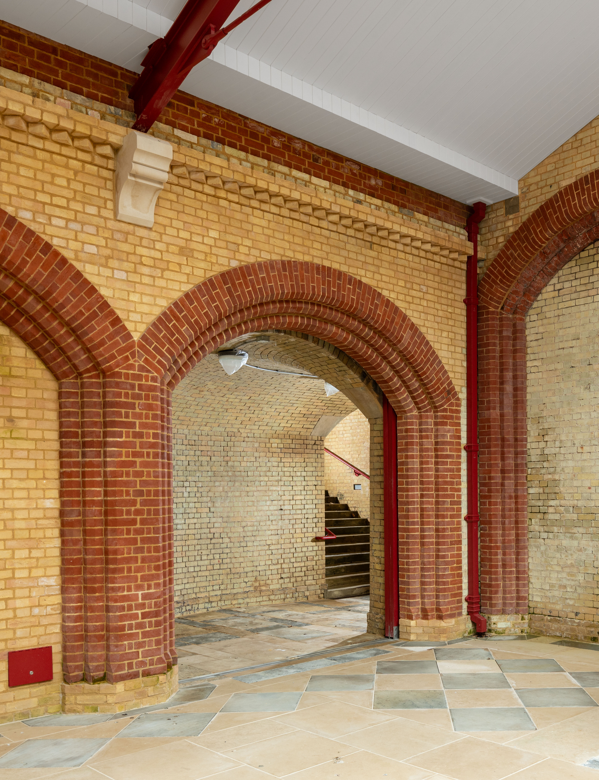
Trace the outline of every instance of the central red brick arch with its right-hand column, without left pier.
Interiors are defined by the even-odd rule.
[[[204,356],[269,328],[324,339],[385,392],[400,420],[400,617],[461,615],[459,399],[431,344],[392,301],[334,268],[248,264],[172,303],[141,337],[140,359],[161,376],[169,404],[172,388]]]

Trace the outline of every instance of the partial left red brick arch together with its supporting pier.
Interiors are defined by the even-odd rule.
[[[133,337],[94,285],[2,210],[0,321],[58,380],[65,680],[164,672],[168,529],[151,484],[160,385],[137,371]]]

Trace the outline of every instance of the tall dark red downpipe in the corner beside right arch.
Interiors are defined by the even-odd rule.
[[[487,620],[480,614],[480,567],[478,560],[478,223],[484,219],[487,206],[475,203],[466,220],[468,240],[473,254],[466,261],[466,466],[468,514],[468,614],[477,633],[487,631]]]

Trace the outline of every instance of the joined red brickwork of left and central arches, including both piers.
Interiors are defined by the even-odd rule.
[[[424,336],[368,285],[314,264],[255,264],[190,290],[136,344],[73,264],[0,211],[0,320],[59,383],[67,683],[176,662],[170,392],[249,328],[318,334],[388,394],[402,419],[402,616],[461,614],[458,399]]]

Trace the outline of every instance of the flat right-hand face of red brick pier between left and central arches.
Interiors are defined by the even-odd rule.
[[[110,683],[172,667],[170,474],[164,388],[138,364],[105,379],[107,664]],[[170,557],[169,557],[170,556]]]

